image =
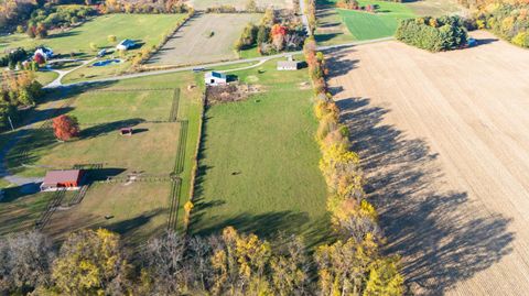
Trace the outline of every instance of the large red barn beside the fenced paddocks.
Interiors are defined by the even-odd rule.
[[[41,191],[78,190],[84,173],[82,169],[50,171],[41,184]]]

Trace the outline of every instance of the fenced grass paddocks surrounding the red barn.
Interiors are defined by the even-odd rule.
[[[9,172],[17,176],[42,177],[50,168],[101,164],[89,171],[95,183],[80,204],[71,206],[76,193],[68,193],[43,230],[53,238],[64,238],[76,229],[107,227],[123,234],[127,243],[136,245],[163,231],[170,212],[175,217],[172,227],[181,230],[202,112],[201,89],[187,88],[194,84],[195,76],[185,73],[58,91],[33,111],[33,117],[40,121],[26,130],[2,134],[2,143],[13,141],[19,134],[7,154]],[[173,105],[174,90],[165,88],[176,87],[180,96]],[[168,122],[172,110],[179,119],[176,122]],[[50,111],[54,116],[76,116],[80,122],[80,138],[66,143],[55,141],[52,130],[42,121],[45,120],[42,114]],[[122,127],[133,127],[136,133],[130,138],[121,136],[117,130]],[[131,173],[139,173],[141,179],[126,182]],[[181,179],[176,187],[169,179],[172,173]],[[97,183],[108,177],[115,180]],[[54,198],[54,194],[34,194],[35,188],[4,182],[1,185],[6,197],[0,208],[6,224],[0,228],[0,234],[32,228]],[[171,207],[173,189],[176,199]]]

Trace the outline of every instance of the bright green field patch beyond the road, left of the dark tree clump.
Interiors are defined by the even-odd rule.
[[[413,11],[402,3],[387,1],[358,1],[363,7],[375,4],[376,13],[338,9],[343,22],[355,40],[392,36],[399,20],[414,18]]]

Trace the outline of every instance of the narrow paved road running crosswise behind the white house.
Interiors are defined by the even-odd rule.
[[[338,45],[319,46],[317,50],[326,52],[326,51],[339,50],[339,48],[343,48],[343,47],[350,47],[350,46],[367,44],[367,43],[385,42],[385,41],[390,41],[390,40],[393,40],[393,37],[384,37],[384,39],[369,40],[369,41],[357,41],[357,42],[349,42],[349,43],[338,44]],[[53,84],[53,85],[47,85],[45,88],[73,87],[73,86],[82,86],[82,85],[96,84],[96,83],[116,81],[116,80],[123,80],[123,79],[130,79],[130,78],[139,78],[139,77],[145,77],[145,76],[193,70],[194,68],[197,68],[197,67],[215,68],[215,67],[237,65],[237,64],[242,64],[242,63],[252,63],[252,62],[264,63],[268,59],[287,57],[289,55],[296,55],[296,54],[302,54],[302,53],[303,53],[302,51],[288,52],[288,53],[277,54],[277,55],[260,56],[260,57],[253,57],[253,58],[235,59],[235,61],[228,61],[228,62],[202,64],[202,65],[177,67],[177,68],[170,68],[170,69],[163,69],[163,70],[152,70],[152,72],[127,74],[127,75],[121,75],[121,76],[112,76],[112,77],[107,77],[107,78],[100,78],[100,79],[82,81],[82,83],[74,83],[74,84],[66,84],[66,85]]]

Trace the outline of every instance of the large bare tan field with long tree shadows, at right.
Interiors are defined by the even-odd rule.
[[[529,51],[474,35],[463,51],[386,42],[330,59],[388,252],[419,295],[529,290]]]

